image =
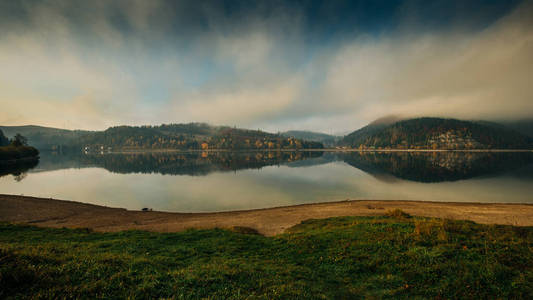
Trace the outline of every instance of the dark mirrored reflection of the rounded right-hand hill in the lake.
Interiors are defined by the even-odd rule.
[[[419,182],[497,175],[533,163],[531,153],[501,152],[355,152],[342,159],[377,177],[391,174]]]

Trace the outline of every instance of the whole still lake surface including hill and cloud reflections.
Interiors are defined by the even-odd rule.
[[[533,203],[533,153],[53,154],[0,170],[0,193],[174,212],[345,199]]]

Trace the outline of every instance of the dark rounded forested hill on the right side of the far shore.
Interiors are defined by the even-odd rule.
[[[510,128],[441,118],[370,124],[341,143],[360,149],[533,149],[531,137]]]

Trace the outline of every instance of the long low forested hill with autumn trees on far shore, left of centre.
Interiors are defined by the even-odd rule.
[[[118,126],[105,131],[70,131],[28,126],[28,141],[40,149],[180,149],[276,150],[323,148],[323,144],[259,130],[204,123]],[[8,128],[8,127],[0,127]],[[33,130],[30,130],[33,128]],[[10,128],[12,129],[12,128]]]

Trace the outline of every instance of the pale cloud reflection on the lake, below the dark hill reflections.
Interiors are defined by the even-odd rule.
[[[512,176],[422,183],[382,181],[344,162],[304,168],[207,176],[116,174],[101,168],[30,173],[21,182],[0,178],[6,194],[74,200],[111,207],[165,211],[222,211],[350,199],[533,203],[533,182]]]

